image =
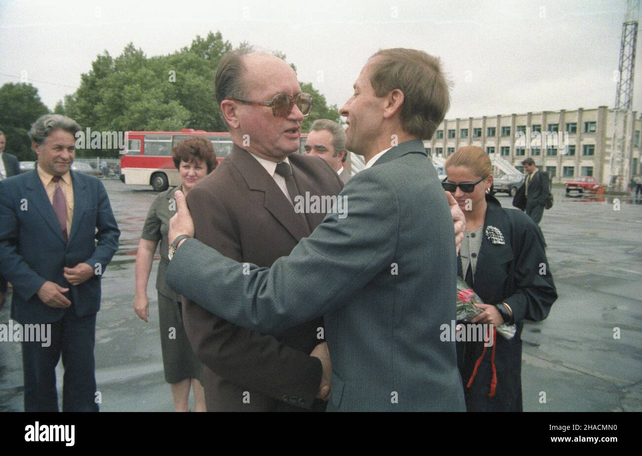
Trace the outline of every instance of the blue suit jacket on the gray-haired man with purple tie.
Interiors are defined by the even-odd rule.
[[[71,180],[74,216],[69,241],[37,170],[0,181],[0,272],[13,285],[12,319],[23,324],[51,323],[63,317],[64,308],[40,301],[37,291],[45,281],[69,288],[66,295],[78,316],[100,309],[101,275],[73,286],[65,280],[63,267],[84,262],[104,273],[118,250],[120,231],[103,183],[74,171]]]

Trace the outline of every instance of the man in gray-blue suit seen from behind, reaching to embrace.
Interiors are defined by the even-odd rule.
[[[442,324],[456,320],[455,232],[421,141],[448,105],[437,58],[377,52],[341,110],[346,146],[367,162],[339,195],[347,216],[331,211],[290,256],[259,268],[180,238],[193,227],[177,192],[169,286],[265,333],[323,315],[332,356],[327,410],[464,411],[454,342],[440,340]]]

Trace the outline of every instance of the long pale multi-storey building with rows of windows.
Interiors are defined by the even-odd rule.
[[[627,133],[631,153],[624,166],[626,183],[632,175],[642,173],[642,115],[634,112],[632,119]],[[541,170],[548,171],[553,182],[594,176],[606,186],[611,173],[613,123],[614,112],[605,106],[444,119],[433,138],[424,141],[424,145],[433,156],[445,158],[462,146],[480,146],[487,153],[500,155],[520,171],[523,170],[521,162],[531,157]],[[535,139],[529,141],[528,137]]]

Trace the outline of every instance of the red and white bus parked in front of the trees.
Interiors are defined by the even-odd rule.
[[[180,132],[125,132],[125,150],[121,150],[121,181],[127,185],[151,185],[155,191],[179,186],[180,177],[171,159],[171,149],[189,136],[205,136],[212,141],[219,162],[232,151],[229,133],[193,128],[183,128]],[[306,137],[308,134],[301,135],[299,153],[305,153]]]

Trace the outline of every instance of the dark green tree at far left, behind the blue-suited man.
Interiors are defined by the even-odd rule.
[[[28,83],[6,83],[0,87],[0,130],[6,137],[4,150],[21,161],[35,160],[28,132],[31,124],[49,109],[38,89]]]

